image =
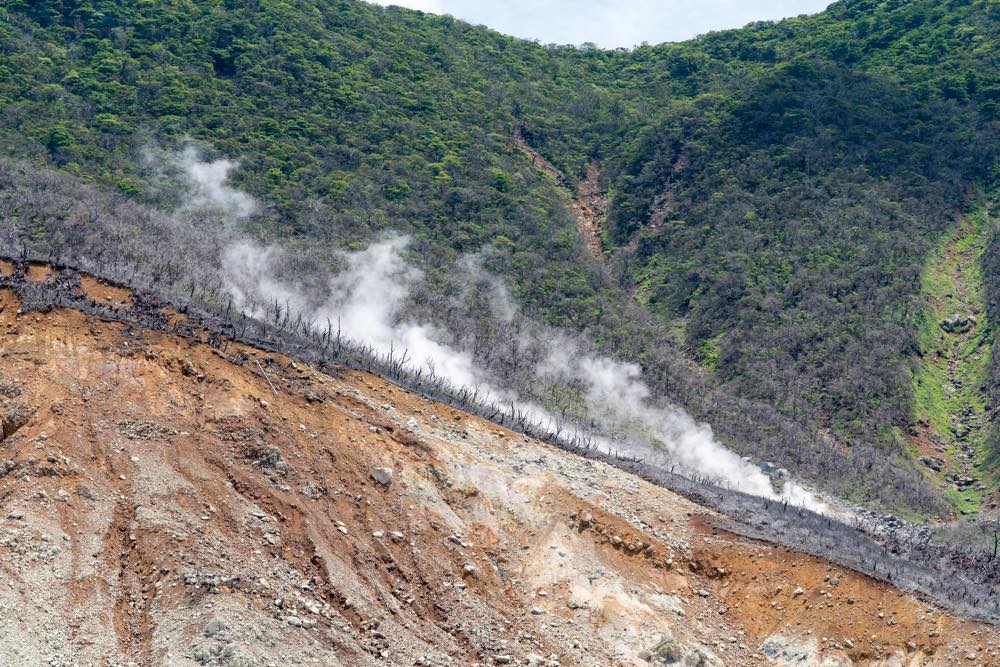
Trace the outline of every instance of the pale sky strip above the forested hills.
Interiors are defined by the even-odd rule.
[[[831,0],[373,0],[451,14],[543,44],[603,48],[689,39],[753,21],[813,14]]]

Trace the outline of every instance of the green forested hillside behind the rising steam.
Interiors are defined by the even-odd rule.
[[[489,247],[529,313],[641,362],[737,450],[940,512],[909,442],[941,407],[917,396],[921,276],[998,191],[998,26],[997,0],[842,0],[602,51],[356,0],[14,0],[0,140],[159,205],[144,149],[205,142],[267,203],[255,233],[333,249],[404,230],[432,288]],[[566,205],[594,160],[608,269]],[[22,242],[51,245],[22,213]],[[1000,251],[988,214],[976,229],[988,357]]]

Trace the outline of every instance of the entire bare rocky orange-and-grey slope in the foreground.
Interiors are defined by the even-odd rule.
[[[18,308],[2,664],[1000,664],[993,628],[375,376]]]

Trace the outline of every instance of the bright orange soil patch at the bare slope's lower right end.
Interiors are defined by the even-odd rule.
[[[996,630],[942,613],[887,584],[787,549],[738,541],[722,531],[696,551],[700,569],[723,571],[719,596],[763,641],[813,637],[828,655],[854,663],[998,664]],[[975,660],[968,656],[976,654]],[[945,657],[950,656],[950,657]]]

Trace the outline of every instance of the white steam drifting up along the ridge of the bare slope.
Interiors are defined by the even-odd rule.
[[[196,151],[186,149],[175,158],[175,164],[183,169],[195,193],[189,205],[212,207],[230,219],[255,210],[252,198],[227,183],[235,163],[201,162]],[[288,259],[279,246],[233,239],[220,261],[224,286],[244,310],[261,315],[269,304],[278,304],[303,314],[316,326],[325,328],[329,321],[347,338],[380,354],[393,351],[398,357],[405,351],[415,367],[433,370],[456,386],[477,387],[485,402],[515,401],[531,421],[559,423],[544,408],[498,388],[470,353],[442,342],[447,337],[433,325],[403,315],[412,287],[423,277],[405,259],[407,244],[406,237],[388,236],[364,250],[342,253],[345,268],[329,278],[326,294],[319,301],[278,277],[279,266]],[[466,258],[463,264],[470,273],[482,275],[478,258]],[[493,287],[493,307],[509,322],[516,314],[516,304],[499,278],[488,276],[487,280]],[[546,339],[547,355],[537,369],[539,377],[583,387],[588,417],[602,431],[617,436],[595,439],[604,451],[628,453],[747,493],[826,511],[813,494],[793,482],[786,481],[776,492],[767,475],[715,440],[708,425],[696,422],[678,407],[659,404],[642,381],[638,366],[587,354],[565,334],[552,336],[549,331]]]

